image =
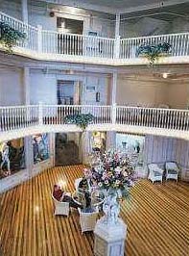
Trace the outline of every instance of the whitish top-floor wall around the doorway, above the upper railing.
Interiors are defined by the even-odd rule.
[[[49,13],[53,10],[54,17]],[[21,0],[1,0],[0,11],[22,19]],[[29,24],[42,25],[45,30],[57,31],[57,16],[84,21],[84,33],[97,32],[100,37],[113,37],[115,23],[109,19],[106,13],[91,12],[82,9],[74,9],[60,5],[48,4],[40,1],[28,1]]]

